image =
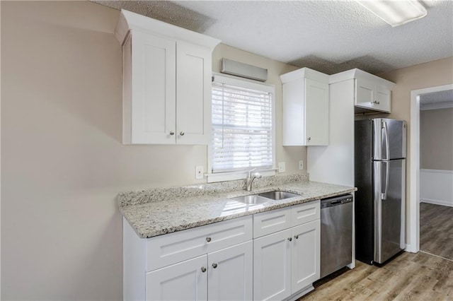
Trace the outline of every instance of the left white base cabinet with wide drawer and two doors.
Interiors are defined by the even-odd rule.
[[[252,300],[252,216],[139,238],[123,220],[124,300]]]

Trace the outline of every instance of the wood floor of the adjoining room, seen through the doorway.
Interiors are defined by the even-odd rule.
[[[420,203],[420,251],[453,260],[453,207]]]

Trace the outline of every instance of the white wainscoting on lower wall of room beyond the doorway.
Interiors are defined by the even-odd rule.
[[[452,183],[452,170],[420,170],[420,201],[453,207]]]

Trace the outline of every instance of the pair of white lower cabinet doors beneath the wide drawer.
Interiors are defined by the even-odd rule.
[[[147,300],[251,300],[253,243],[147,273]]]

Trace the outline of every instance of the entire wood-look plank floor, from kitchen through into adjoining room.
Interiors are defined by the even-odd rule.
[[[442,258],[443,257],[443,258]],[[309,300],[452,300],[453,208],[420,203],[420,252],[403,252],[383,266],[356,261],[314,283]]]

